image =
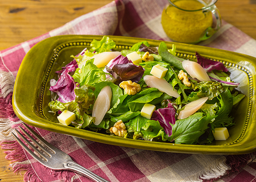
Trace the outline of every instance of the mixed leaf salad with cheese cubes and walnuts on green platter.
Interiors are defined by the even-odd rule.
[[[210,144],[235,124],[229,114],[245,95],[221,62],[198,52],[197,62],[176,57],[175,45],[168,49],[165,42],[142,41],[119,52],[103,36],[90,46],[50,80],[49,112],[60,123],[178,144]]]

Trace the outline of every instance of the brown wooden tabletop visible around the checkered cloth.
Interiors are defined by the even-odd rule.
[[[0,50],[47,33],[109,2],[111,0],[0,0]],[[216,5],[226,22],[256,39],[256,0],[219,0]],[[13,174],[9,164],[4,150],[0,149],[0,181],[23,181],[23,176]]]

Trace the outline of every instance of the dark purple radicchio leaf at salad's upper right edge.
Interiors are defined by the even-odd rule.
[[[196,52],[197,63],[200,64],[207,72],[212,70],[222,70],[223,72],[228,72],[228,69],[224,67],[224,64],[218,61],[213,61],[207,58],[204,58]]]

